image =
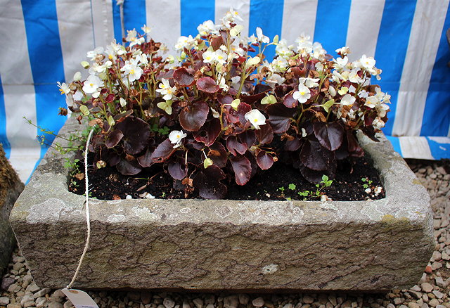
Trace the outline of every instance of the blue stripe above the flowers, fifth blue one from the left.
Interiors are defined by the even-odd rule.
[[[330,54],[345,46],[351,6],[351,0],[319,0],[317,4],[314,41]]]

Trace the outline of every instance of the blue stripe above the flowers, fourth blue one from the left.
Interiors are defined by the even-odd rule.
[[[255,34],[256,28],[260,27],[262,33],[269,37],[270,41],[276,35],[281,37],[281,27],[283,25],[284,0],[250,0],[250,20],[248,34]],[[271,62],[275,56],[275,46],[269,46],[264,51],[266,60]]]

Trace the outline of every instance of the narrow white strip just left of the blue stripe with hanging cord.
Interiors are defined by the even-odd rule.
[[[91,0],[92,23],[96,47],[105,47],[114,39],[112,0]],[[85,12],[84,14],[87,14]],[[120,41],[117,43],[120,44]]]

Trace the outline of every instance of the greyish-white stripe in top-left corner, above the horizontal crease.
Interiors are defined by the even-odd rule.
[[[27,34],[20,0],[2,1],[0,9],[0,75],[3,84],[32,84]],[[6,2],[6,3],[5,3]]]

